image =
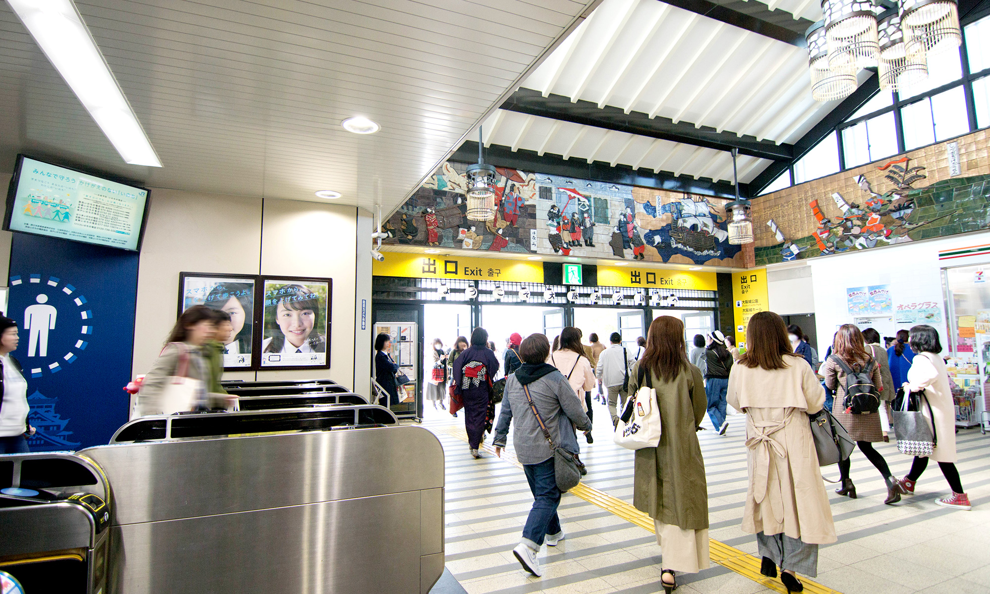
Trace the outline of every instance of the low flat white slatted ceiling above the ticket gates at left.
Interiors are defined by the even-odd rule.
[[[324,5],[326,4],[326,5]],[[79,11],[163,163],[121,162],[6,4],[0,168],[60,155],[151,186],[388,210],[594,2],[87,0]],[[474,32],[483,32],[475,34]],[[376,135],[345,132],[361,114]]]

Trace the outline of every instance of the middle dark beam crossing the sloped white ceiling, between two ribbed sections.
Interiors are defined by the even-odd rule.
[[[641,112],[627,114],[618,107],[599,108],[593,101],[571,103],[570,97],[553,94],[544,97],[540,91],[526,88],[513,93],[501,105],[501,109],[695,147],[716,150],[739,148],[740,154],[770,160],[789,159],[794,154],[790,145],[756,141],[753,137],[747,136],[741,138],[733,132],[717,132],[707,126],[695,128],[694,124],[689,122],[674,124],[668,118],[650,118]]]

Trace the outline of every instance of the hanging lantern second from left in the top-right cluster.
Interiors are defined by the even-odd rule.
[[[858,68],[876,65],[880,52],[876,13],[870,0],[824,0],[829,65],[836,71],[851,61]]]

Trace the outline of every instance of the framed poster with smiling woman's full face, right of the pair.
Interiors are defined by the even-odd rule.
[[[329,367],[331,280],[263,282],[261,367]]]

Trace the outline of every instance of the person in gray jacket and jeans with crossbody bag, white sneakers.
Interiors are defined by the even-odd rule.
[[[559,543],[563,540],[563,529],[560,528],[560,519],[556,513],[560,504],[560,490],[557,489],[553,471],[553,450],[530,407],[527,391],[540,411],[554,446],[561,442],[574,446],[577,444],[573,429],[569,430],[572,435],[561,435],[561,425],[570,426],[570,423],[560,423],[561,416],[570,419],[580,431],[591,429],[591,422],[584,413],[581,400],[570,387],[567,378],[556,367],[545,362],[549,354],[549,341],[542,334],[530,335],[520,345],[519,355],[523,364],[506,378],[502,411],[493,442],[495,453],[501,456],[509,434],[509,425],[513,421],[513,410],[517,411],[512,441],[516,447],[516,458],[523,464],[526,480],[533,491],[534,502],[526,527],[523,528],[523,540],[513,549],[513,553],[524,569],[537,576],[541,575],[540,561],[537,560],[540,546],[544,541],[548,546]]]

